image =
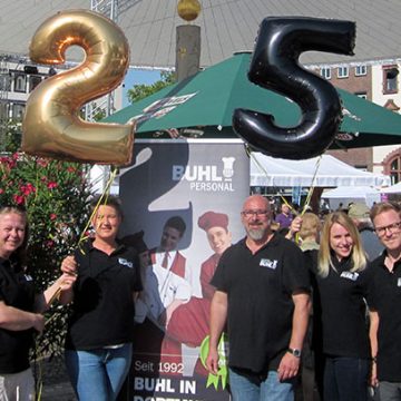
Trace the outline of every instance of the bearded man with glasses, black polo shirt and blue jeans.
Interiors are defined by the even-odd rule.
[[[219,371],[227,322],[233,401],[290,401],[307,326],[309,273],[301,250],[272,232],[266,198],[250,196],[241,216],[246,237],[224,252],[211,282],[207,369]]]

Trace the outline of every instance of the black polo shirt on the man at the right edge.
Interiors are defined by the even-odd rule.
[[[401,382],[401,261],[392,273],[384,266],[387,252],[371,263],[373,280],[369,307],[379,313],[378,378]]]

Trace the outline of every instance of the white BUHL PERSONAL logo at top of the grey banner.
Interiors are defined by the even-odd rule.
[[[219,165],[174,165],[172,179],[186,180],[196,192],[234,192],[234,163],[235,157],[222,157]]]

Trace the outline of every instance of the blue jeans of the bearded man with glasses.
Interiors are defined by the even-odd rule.
[[[293,401],[294,380],[278,381],[276,371],[267,376],[243,373],[229,369],[229,388],[233,401]]]

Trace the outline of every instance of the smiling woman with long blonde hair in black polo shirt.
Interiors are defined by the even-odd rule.
[[[324,401],[365,401],[366,257],[351,218],[343,212],[327,215],[320,250],[307,254],[314,274],[314,346],[324,355]]]

